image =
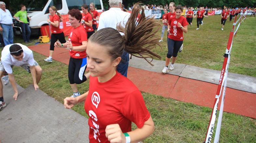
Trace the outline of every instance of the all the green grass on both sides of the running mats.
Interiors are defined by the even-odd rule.
[[[209,16],[209,18],[204,18],[204,25],[200,26],[200,30],[196,31],[195,22],[196,20],[193,19],[193,26],[189,27],[189,32],[185,34],[184,49],[179,53],[177,62],[220,70],[229,31],[231,31],[233,23],[227,21],[224,31],[221,31],[220,16]],[[234,39],[230,72],[256,77],[255,22],[256,18],[248,17],[245,23],[240,26]],[[159,32],[160,34],[161,31]],[[16,38],[15,41],[21,42],[22,40],[21,38]],[[163,50],[156,49],[156,52],[162,55],[162,60],[164,60],[167,52],[165,43],[166,38],[162,43]],[[43,69],[39,88],[63,103],[63,99],[72,94],[67,76],[68,66],[57,61],[52,63],[44,62],[43,59],[46,57],[35,52],[34,57]],[[20,67],[14,67],[13,71],[16,75],[17,83],[23,88],[32,83],[31,75]],[[88,81],[78,85],[79,92],[86,92],[88,86]],[[202,143],[204,141],[211,108],[149,93],[142,94],[155,123],[153,135],[145,139],[144,143]],[[84,111],[83,103],[76,105],[73,110],[88,118]],[[133,128],[135,128],[135,125],[133,125]],[[220,142],[255,143],[255,141],[255,119],[233,113],[223,113]]]

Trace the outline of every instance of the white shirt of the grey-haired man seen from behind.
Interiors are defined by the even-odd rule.
[[[106,27],[116,29],[120,22],[121,26],[125,27],[130,15],[129,12],[124,12],[121,8],[112,7],[100,15],[98,30]],[[120,34],[123,35],[123,33]]]

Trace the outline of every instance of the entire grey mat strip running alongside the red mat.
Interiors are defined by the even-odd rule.
[[[130,67],[153,72],[162,72],[165,61],[153,60],[152,64],[154,64],[154,66],[151,66],[146,60],[134,56],[129,61]],[[214,84],[218,84],[220,79],[220,71],[179,63],[175,63],[173,71],[168,70],[166,73]],[[229,72],[227,87],[250,93],[256,93],[256,78]]]

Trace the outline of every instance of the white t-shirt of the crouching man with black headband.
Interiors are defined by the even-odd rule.
[[[12,68],[11,65],[14,66],[21,66],[23,64],[29,64],[30,66],[34,65],[34,58],[33,58],[33,52],[31,49],[29,49],[27,46],[22,45],[20,43],[16,43],[17,45],[20,45],[22,50],[23,50],[23,59],[21,61],[16,60],[11,54],[10,54],[10,47],[13,44],[9,44],[4,47],[2,50],[2,55],[1,55],[1,61],[4,65],[5,71],[7,73],[12,73]]]

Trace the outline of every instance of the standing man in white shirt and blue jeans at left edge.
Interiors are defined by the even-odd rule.
[[[5,3],[0,2],[0,31],[3,31],[5,45],[13,44],[12,16]]]

